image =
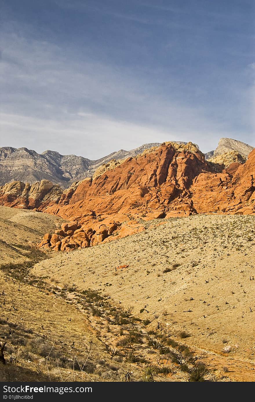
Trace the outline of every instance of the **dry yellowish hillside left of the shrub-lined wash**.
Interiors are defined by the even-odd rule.
[[[35,247],[62,219],[2,206],[0,214],[0,343],[6,341],[0,381],[118,380],[131,363],[112,362],[71,293],[60,297],[57,281],[45,287],[29,273],[36,261],[53,254]],[[139,380],[141,370],[131,370]]]

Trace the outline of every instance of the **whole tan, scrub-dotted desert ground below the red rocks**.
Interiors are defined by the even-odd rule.
[[[156,219],[134,236],[56,253],[33,242],[59,217],[1,214],[4,381],[123,381],[127,373],[149,381],[151,370],[156,381],[188,381],[193,361],[204,362],[210,381],[254,380],[254,217]]]

